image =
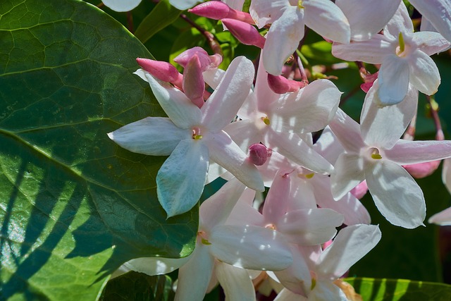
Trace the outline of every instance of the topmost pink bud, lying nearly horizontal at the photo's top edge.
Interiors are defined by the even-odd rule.
[[[222,20],[225,18],[240,20],[245,23],[254,24],[254,20],[249,13],[236,11],[221,1],[209,1],[199,4],[188,10],[197,16],[202,16],[214,20]]]

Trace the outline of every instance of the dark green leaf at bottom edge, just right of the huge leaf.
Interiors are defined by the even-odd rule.
[[[174,295],[169,276],[131,271],[109,281],[100,301],[170,301]]]

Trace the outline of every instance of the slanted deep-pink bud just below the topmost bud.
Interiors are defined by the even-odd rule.
[[[223,19],[223,25],[234,35],[238,41],[246,45],[254,45],[263,49],[266,39],[252,25],[233,19]]]

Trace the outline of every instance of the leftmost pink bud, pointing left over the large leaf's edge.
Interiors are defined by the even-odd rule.
[[[165,61],[154,61],[151,59],[136,59],[137,63],[148,73],[163,82],[171,82],[177,87],[182,87],[183,75],[181,75],[177,68]]]

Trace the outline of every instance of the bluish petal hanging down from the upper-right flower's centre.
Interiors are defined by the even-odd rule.
[[[395,54],[386,56],[378,80],[381,104],[387,106],[402,102],[409,89],[409,61]]]

